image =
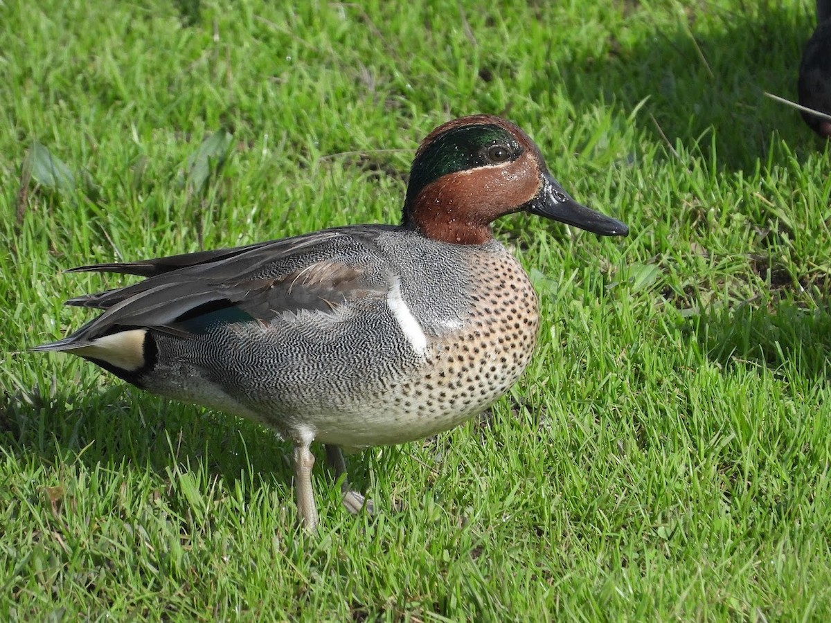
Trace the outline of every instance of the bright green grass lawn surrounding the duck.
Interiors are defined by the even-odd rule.
[[[282,4],[0,3],[0,619],[829,620],[829,148],[762,96],[810,7]],[[479,111],[632,234],[499,223],[538,352],[352,457],[375,517],[316,468],[304,534],[267,430],[27,353],[124,282],[62,269],[396,222],[418,140]],[[76,184],[28,179],[36,141]]]

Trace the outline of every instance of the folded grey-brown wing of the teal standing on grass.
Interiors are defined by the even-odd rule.
[[[104,312],[71,336],[34,351],[82,349],[136,329],[187,336],[215,322],[268,323],[281,314],[332,312],[361,300],[385,299],[391,282],[391,269],[372,244],[371,230],[361,227],[72,270],[147,278],[71,299],[67,304]]]

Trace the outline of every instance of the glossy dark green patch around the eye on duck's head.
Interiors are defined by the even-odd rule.
[[[512,159],[519,155],[519,145],[499,125],[463,125],[436,136],[413,162],[406,204],[411,205],[421,189],[444,175],[489,164],[484,149],[497,143],[509,148]]]

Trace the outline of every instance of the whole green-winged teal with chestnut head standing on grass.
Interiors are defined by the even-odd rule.
[[[297,508],[313,528],[312,441],[326,445],[355,510],[363,498],[348,489],[341,449],[451,429],[522,374],[537,296],[490,229],[520,211],[627,234],[569,197],[516,125],[474,115],[420,145],[401,225],[74,268],[146,278],[71,299],[104,312],[34,350],[276,429],[294,444]]]

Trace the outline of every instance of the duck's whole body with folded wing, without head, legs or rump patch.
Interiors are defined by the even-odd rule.
[[[105,312],[42,350],[147,326],[155,359],[131,382],[347,449],[453,428],[504,394],[534,350],[536,294],[495,241],[352,226],[194,258],[117,265],[153,276],[74,299]],[[241,319],[182,320],[217,302]]]

